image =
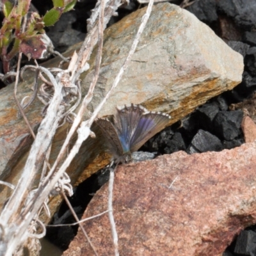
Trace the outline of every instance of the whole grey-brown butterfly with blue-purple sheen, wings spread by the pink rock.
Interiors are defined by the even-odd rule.
[[[168,114],[148,111],[143,106],[135,104],[116,108],[116,111],[111,120],[95,120],[106,138],[115,163],[131,161],[131,153],[164,129],[171,118]]]

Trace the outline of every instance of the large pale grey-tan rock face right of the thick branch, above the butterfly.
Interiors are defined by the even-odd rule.
[[[124,63],[144,13],[145,8],[138,10],[107,29],[92,109]],[[92,67],[83,84],[90,82],[93,72]],[[234,88],[242,73],[241,54],[208,26],[177,5],[157,4],[131,65],[101,115],[113,114],[118,104],[133,102],[166,111],[176,122],[211,97]]]

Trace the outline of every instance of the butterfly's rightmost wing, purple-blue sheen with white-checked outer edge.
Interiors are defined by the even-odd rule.
[[[146,141],[168,125],[171,116],[160,112],[147,112],[141,115],[131,138],[131,152],[137,151]]]

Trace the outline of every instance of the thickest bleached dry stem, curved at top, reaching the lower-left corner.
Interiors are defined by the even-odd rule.
[[[36,134],[36,140],[29,152],[22,176],[20,177],[12,196],[1,212],[1,225],[4,227],[6,236],[4,236],[3,241],[1,241],[0,249],[2,250],[2,246],[4,246],[6,255],[11,255],[17,244],[21,244],[26,237],[28,237],[27,228],[29,227],[31,220],[33,220],[33,217],[36,215],[36,212],[40,209],[45,198],[47,198],[47,196],[43,198],[33,216],[30,216],[30,218],[24,218],[24,216],[22,216],[20,209],[22,209],[22,205],[25,204],[28,191],[34,182],[36,173],[40,170],[40,163],[44,161],[47,149],[51,145],[52,138],[56,132],[58,123],[60,122],[61,113],[64,111],[64,107],[60,106],[62,101],[61,84],[56,83],[54,77],[46,68],[40,67],[40,69],[47,74],[52,84],[54,84],[55,92],[51,103],[49,104],[49,108],[47,109],[47,115],[44,120],[42,120],[38,133]],[[28,206],[31,207],[31,205]],[[13,230],[14,223],[15,229]],[[19,227],[19,236],[17,236],[16,233],[17,227]],[[13,236],[14,234],[15,236]]]

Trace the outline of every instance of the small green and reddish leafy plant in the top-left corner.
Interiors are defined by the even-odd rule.
[[[0,58],[4,73],[10,71],[10,61],[19,52],[29,59],[45,58],[49,44],[45,40],[44,27],[54,25],[62,13],[74,8],[77,0],[52,0],[53,8],[43,17],[29,12],[30,2],[18,0],[17,4],[13,4],[2,0],[4,20],[0,29]]]

